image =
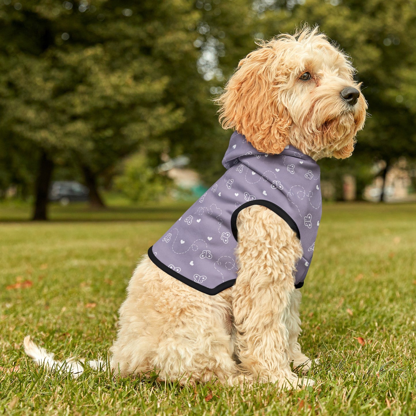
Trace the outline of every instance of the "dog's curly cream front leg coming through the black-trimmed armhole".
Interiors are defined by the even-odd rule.
[[[262,206],[242,210],[237,220],[239,272],[233,287],[235,347],[242,370],[260,382],[301,387],[290,369],[286,321],[295,290],[293,271],[302,255],[295,233]]]

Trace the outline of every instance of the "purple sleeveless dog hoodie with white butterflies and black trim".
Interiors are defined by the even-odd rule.
[[[261,153],[236,131],[223,166],[225,174],[149,248],[149,258],[186,285],[216,295],[238,275],[238,213],[262,205],[300,238],[303,257],[293,278],[295,287],[302,287],[322,213],[319,166],[293,146],[277,155]]]

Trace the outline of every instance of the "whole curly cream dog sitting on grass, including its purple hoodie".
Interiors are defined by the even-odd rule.
[[[311,386],[314,381],[298,376],[290,364],[306,370],[312,364],[298,342],[301,292],[297,288],[305,279],[307,259],[312,259],[314,243],[307,245],[316,237],[320,218],[319,181],[312,182],[312,178],[319,179],[316,161],[320,158],[352,154],[355,136],[364,126],[366,101],[354,81],[349,57],[317,27],[305,26],[294,35],[259,42],[258,49],[240,61],[216,102],[223,128],[235,130],[229,146],[231,156],[226,154],[223,161],[234,176],[216,183],[223,186],[223,193],[215,185],[211,187],[194,204],[195,214],[187,211],[178,220],[182,228],[174,225],[139,262],[119,310],[111,369],[120,376],[156,370],[160,380],[191,385],[215,379],[239,386],[256,382],[277,383],[288,389]],[[236,156],[234,146],[240,146],[243,153],[251,150]],[[268,157],[282,163],[276,166],[283,169],[273,170],[275,162],[267,162]],[[258,168],[257,160],[266,164]],[[310,169],[305,168],[308,163]],[[312,187],[295,181],[289,191],[286,182],[278,181],[283,170],[291,177],[297,169],[302,169],[302,181],[309,180]],[[247,179],[238,182],[244,172]],[[254,183],[256,175],[259,179],[252,195],[244,186]],[[303,191],[292,190],[295,186]],[[263,195],[270,199],[262,201],[270,203],[258,203],[260,198],[254,195],[263,188]],[[228,206],[234,204],[233,214],[237,213],[232,218],[234,228],[231,225],[237,238],[234,245],[227,231],[229,221],[224,220],[223,210],[218,213],[218,203],[204,205],[204,198],[214,198],[215,193],[215,201],[220,201],[231,191],[241,198],[228,201]],[[282,200],[272,199],[277,193]],[[301,208],[299,201],[306,201],[316,212],[308,213],[309,208]],[[291,203],[295,207],[287,208]],[[295,218],[296,210],[302,211],[300,218]],[[218,234],[212,231],[218,240],[219,248],[215,249],[221,252],[227,247],[223,257],[230,260],[208,263],[215,260],[208,250],[213,237],[198,237],[197,228],[194,234],[189,231],[186,238],[181,237],[181,230],[187,230],[184,227],[199,225],[197,218],[210,220],[218,228],[214,230]],[[314,235],[305,237],[309,238],[305,243],[302,235],[307,228]],[[188,237],[195,237],[192,245],[186,243]],[[160,260],[160,255],[166,259]],[[167,264],[170,258],[180,259],[181,265]],[[181,271],[196,266],[197,260],[200,268],[195,275],[192,270],[188,275]],[[218,269],[219,265],[223,268]],[[216,270],[227,273],[222,282],[214,276]],[[62,368],[62,363],[36,347],[30,337],[24,345],[38,364]],[[98,366],[97,362],[90,364]],[[77,376],[82,368],[72,363],[67,371]]]

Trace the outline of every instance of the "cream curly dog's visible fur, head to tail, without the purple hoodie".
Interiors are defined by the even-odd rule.
[[[220,121],[267,154],[291,144],[314,160],[347,158],[366,114],[353,74],[348,57],[317,29],[280,35],[241,60],[218,98]],[[119,310],[115,373],[156,369],[161,380],[190,384],[313,384],[290,368],[311,364],[298,343],[301,292],[293,275],[300,240],[264,206],[243,209],[237,227],[238,277],[217,295],[185,285],[144,256]],[[25,349],[38,363],[62,365],[29,337]],[[71,371],[82,368],[72,362]]]

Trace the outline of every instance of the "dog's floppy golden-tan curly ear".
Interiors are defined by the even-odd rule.
[[[278,40],[240,61],[216,99],[224,129],[235,129],[258,151],[279,154],[289,144],[292,119],[280,97]]]

